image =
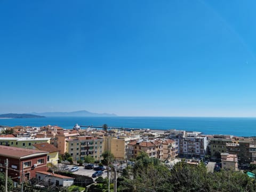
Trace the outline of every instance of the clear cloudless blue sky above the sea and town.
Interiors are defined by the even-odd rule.
[[[0,1],[0,113],[256,116],[255,1]]]

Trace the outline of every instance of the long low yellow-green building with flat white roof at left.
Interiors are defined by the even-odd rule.
[[[31,137],[0,137],[0,145],[33,149],[36,143],[50,143],[51,138],[31,138]]]

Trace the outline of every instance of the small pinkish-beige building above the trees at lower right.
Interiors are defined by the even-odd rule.
[[[238,159],[236,154],[221,153],[222,169],[238,171]]]

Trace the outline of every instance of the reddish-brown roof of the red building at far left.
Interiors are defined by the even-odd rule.
[[[26,156],[42,155],[44,153],[47,154],[47,151],[26,149],[20,147],[0,146],[0,156],[4,157],[22,158]]]

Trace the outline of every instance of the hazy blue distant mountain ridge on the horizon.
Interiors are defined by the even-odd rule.
[[[91,113],[90,111],[80,110],[72,112],[46,112],[46,113],[31,113],[34,115],[43,115],[46,117],[114,117],[116,114],[107,113]]]

